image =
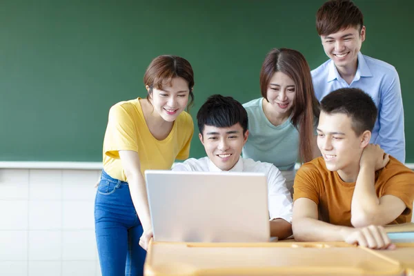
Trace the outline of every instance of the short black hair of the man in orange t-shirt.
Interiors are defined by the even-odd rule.
[[[356,135],[365,130],[373,131],[378,112],[371,96],[359,88],[340,88],[329,93],[321,101],[321,110],[351,117],[351,127]]]

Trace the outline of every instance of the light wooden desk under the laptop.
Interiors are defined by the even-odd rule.
[[[414,224],[387,226],[401,232]],[[159,275],[404,275],[414,272],[414,244],[370,250],[345,242],[150,242],[144,274]],[[410,275],[410,274],[407,274]],[[412,274],[414,276],[414,273]]]

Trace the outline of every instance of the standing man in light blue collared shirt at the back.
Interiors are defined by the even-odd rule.
[[[327,1],[317,11],[316,28],[330,58],[313,70],[315,95],[321,101],[339,88],[360,88],[378,108],[371,143],[402,163],[405,161],[404,110],[400,79],[394,66],[362,55],[366,28],[352,1]],[[355,103],[357,104],[357,103]]]

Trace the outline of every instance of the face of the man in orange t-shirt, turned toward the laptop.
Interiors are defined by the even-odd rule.
[[[317,126],[317,146],[326,168],[338,171],[344,181],[356,177],[362,151],[371,138],[366,137],[366,132],[356,135],[351,124],[351,118],[344,113],[327,114],[322,111]]]

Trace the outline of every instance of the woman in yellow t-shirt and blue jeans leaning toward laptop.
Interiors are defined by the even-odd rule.
[[[95,234],[106,275],[142,275],[152,237],[144,171],[170,169],[187,159],[193,119],[193,68],[182,57],[152,60],[146,99],[121,101],[109,111],[103,171],[95,199]],[[145,250],[144,250],[145,249]]]

